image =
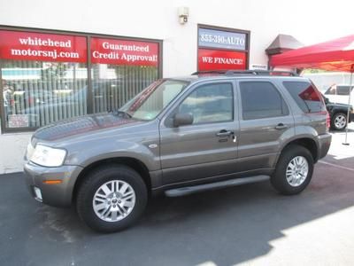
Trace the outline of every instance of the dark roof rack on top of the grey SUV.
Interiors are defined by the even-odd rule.
[[[298,76],[295,72],[291,71],[274,71],[274,70],[208,70],[208,71],[197,71],[192,75],[207,75],[207,74],[225,74],[225,75],[235,75],[235,74],[255,74],[255,75],[283,75],[283,76]]]

